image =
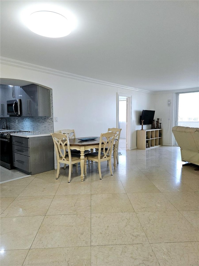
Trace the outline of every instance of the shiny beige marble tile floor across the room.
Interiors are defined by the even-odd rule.
[[[199,171],[178,147],[121,152],[102,180],[94,163],[2,183],[1,265],[198,266]]]

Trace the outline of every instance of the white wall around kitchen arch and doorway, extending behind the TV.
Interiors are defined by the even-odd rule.
[[[74,128],[77,137],[99,136],[108,128],[116,127],[117,93],[132,96],[131,149],[137,147],[137,130],[141,129],[139,119],[143,109],[154,109],[155,114],[160,112],[163,129],[166,126],[164,119],[168,115],[164,112],[168,113],[168,110],[166,108],[162,110],[164,97],[161,99],[161,96],[76,80],[56,75],[56,72],[45,69],[39,71],[35,67],[31,68],[30,64],[28,67],[2,64],[1,78],[27,80],[53,90],[53,115],[58,117],[58,122],[54,122],[54,132],[64,128]],[[144,126],[144,129],[146,128],[147,126]],[[169,128],[167,132],[169,133]],[[164,136],[164,139],[167,137]]]

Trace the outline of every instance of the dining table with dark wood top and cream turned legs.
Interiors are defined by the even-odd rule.
[[[88,137],[89,138],[89,137]],[[79,138],[70,138],[70,148],[76,149],[80,151],[80,167],[81,167],[81,181],[84,181],[84,164],[85,164],[85,157],[84,151],[90,150],[93,152],[95,148],[99,148],[99,140],[100,137],[92,140],[79,140]],[[106,138],[104,138],[106,140]],[[116,140],[113,144],[113,167],[116,168]]]

